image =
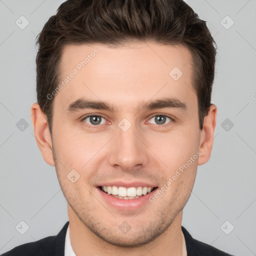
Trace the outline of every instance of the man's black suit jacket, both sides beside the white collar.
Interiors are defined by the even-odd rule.
[[[3,253],[2,256],[64,256],[68,223],[69,221],[65,223],[57,235],[21,244]],[[185,237],[187,256],[231,256],[206,243],[195,240],[183,226],[181,226],[181,230]]]

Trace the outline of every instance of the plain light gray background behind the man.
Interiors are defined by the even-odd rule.
[[[0,253],[55,235],[68,220],[55,169],[44,162],[30,120],[35,36],[61,2],[0,0]],[[186,2],[208,21],[218,46],[212,94],[218,115],[211,158],[198,166],[182,225],[221,250],[256,255],[256,1]],[[21,15],[29,21],[24,29],[15,23]],[[23,130],[16,126],[21,118]],[[22,220],[29,227],[24,234],[15,228]]]

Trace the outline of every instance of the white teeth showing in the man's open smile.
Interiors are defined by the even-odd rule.
[[[152,191],[153,187],[123,187],[123,186],[101,186],[101,190],[105,191],[108,194],[112,194],[115,197],[122,199],[133,199],[138,198],[140,195],[145,195]]]

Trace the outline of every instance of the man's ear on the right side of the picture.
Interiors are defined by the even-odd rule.
[[[210,158],[210,153],[213,144],[214,129],[216,126],[217,107],[214,104],[210,105],[208,114],[204,117],[203,127],[200,134],[201,155],[198,158],[197,165],[204,164]]]

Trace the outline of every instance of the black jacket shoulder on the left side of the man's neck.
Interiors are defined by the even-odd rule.
[[[67,221],[57,235],[18,245],[4,252],[1,256],[64,256],[65,234],[68,223]]]

